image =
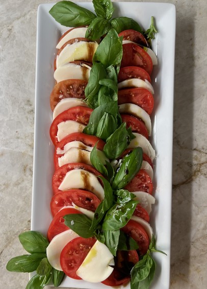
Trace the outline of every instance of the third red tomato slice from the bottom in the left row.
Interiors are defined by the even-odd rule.
[[[50,202],[50,209],[53,216],[57,214],[63,207],[75,204],[80,208],[84,208],[95,212],[100,200],[92,192],[83,189],[68,189],[54,195]]]

